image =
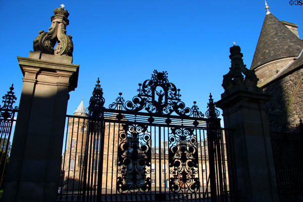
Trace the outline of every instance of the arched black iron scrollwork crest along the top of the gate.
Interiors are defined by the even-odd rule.
[[[180,116],[196,116],[203,118],[204,114],[198,112],[198,108],[194,105],[192,108],[185,107],[180,99],[180,89],[175,84],[168,81],[167,72],[158,72],[154,70],[151,79],[145,80],[143,84],[139,83],[139,92],[133,97],[132,101],[125,102],[122,93],[116,99],[116,102],[109,106],[110,109],[121,109],[127,111],[145,110],[151,114],[170,115],[173,112]]]

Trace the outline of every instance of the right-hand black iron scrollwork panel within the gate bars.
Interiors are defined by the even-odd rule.
[[[194,129],[171,128],[169,137],[169,188],[173,192],[196,192],[199,188],[198,151]]]

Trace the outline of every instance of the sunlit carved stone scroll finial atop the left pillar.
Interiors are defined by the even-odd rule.
[[[48,28],[48,32],[39,31],[39,35],[33,41],[34,51],[56,56],[73,56],[72,36],[66,35],[69,13],[64,9],[64,5],[61,5],[61,8],[54,10],[54,14],[51,18],[52,25]],[[54,49],[56,43],[57,45]]]

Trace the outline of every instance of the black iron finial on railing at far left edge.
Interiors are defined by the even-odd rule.
[[[13,92],[14,90],[13,86],[14,84],[12,84],[12,86],[10,87],[10,91],[8,91],[7,94],[2,96],[3,98],[2,103],[4,103],[4,105],[2,107],[0,105],[0,112],[1,112],[0,117],[4,119],[13,119],[13,114],[18,111],[17,106],[13,107],[15,100],[17,100],[15,92]]]

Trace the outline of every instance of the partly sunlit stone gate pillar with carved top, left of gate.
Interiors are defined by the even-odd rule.
[[[67,101],[79,65],[72,64],[71,37],[63,32],[68,13],[54,13],[34,52],[17,57],[24,78],[3,201],[56,201]]]

